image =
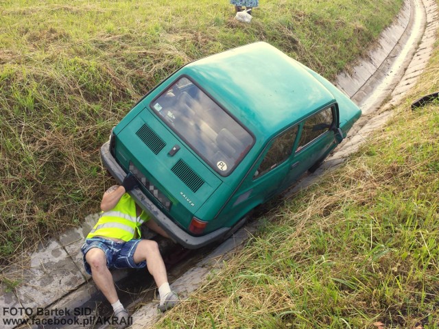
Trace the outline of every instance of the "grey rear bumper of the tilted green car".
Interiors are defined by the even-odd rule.
[[[102,145],[101,158],[102,162],[104,162],[104,166],[108,169],[112,177],[121,184],[127,173],[123,171],[116,162],[116,159],[110,153],[110,141]],[[129,193],[143,210],[152,215],[154,221],[156,221],[158,226],[163,228],[163,230],[169,234],[172,240],[188,249],[198,249],[204,247],[204,245],[209,245],[209,243],[221,239],[230,230],[230,228],[220,228],[203,236],[191,236],[191,234],[182,230],[180,226],[174,223],[174,221],[167,217],[155,204],[153,204],[140,188],[134,188]]]

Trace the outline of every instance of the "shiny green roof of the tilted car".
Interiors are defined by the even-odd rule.
[[[266,42],[196,60],[180,73],[262,139],[335,101],[306,66]]]

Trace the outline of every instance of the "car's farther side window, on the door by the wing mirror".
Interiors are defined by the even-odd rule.
[[[305,120],[296,152],[331,129],[334,122],[333,109],[326,108]]]

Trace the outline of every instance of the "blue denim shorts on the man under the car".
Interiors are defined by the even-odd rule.
[[[102,249],[107,258],[108,269],[141,269],[146,266],[146,262],[142,261],[139,264],[134,263],[134,252],[140,239],[132,239],[128,242],[115,242],[97,236],[86,239],[81,247],[82,259],[84,260],[84,267],[88,274],[91,274],[91,267],[88,265],[85,255],[88,250],[93,248]]]

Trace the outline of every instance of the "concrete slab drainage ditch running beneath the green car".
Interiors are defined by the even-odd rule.
[[[367,60],[355,66],[352,74],[342,73],[337,77],[335,84],[359,104],[363,116],[351,130],[351,136],[322,167],[302,178],[286,196],[318,180],[322,171],[344,162],[371,132],[388,120],[392,105],[414,85],[427,64],[436,42],[437,10],[434,0],[406,0],[395,23],[385,29]],[[385,103],[386,99],[390,101]],[[12,291],[5,284],[0,286],[1,328],[108,328],[108,322],[95,323],[109,317],[112,310],[84,272],[80,254],[84,236],[96,221],[97,215],[89,215],[82,228],[70,230],[58,240],[49,241],[39,252],[23,256],[25,268],[16,266],[2,271],[3,277],[21,283]],[[257,221],[253,221],[221,245],[191,252],[169,269],[171,287],[180,297],[187,298],[211,271],[221,267],[231,251],[244,245],[256,228]],[[169,241],[159,243],[163,254],[178,248]],[[156,308],[152,279],[145,271],[115,271],[113,276],[122,302],[132,313],[132,328],[154,326],[161,315]],[[12,322],[32,317],[34,324]],[[4,319],[11,322],[8,324]]]

